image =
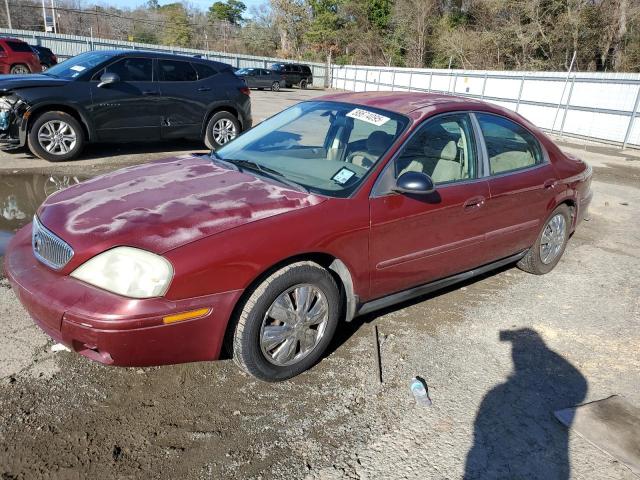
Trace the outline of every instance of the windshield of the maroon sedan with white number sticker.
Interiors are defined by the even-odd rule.
[[[347,197],[407,124],[406,117],[385,110],[303,102],[265,120],[215,156],[311,192]]]

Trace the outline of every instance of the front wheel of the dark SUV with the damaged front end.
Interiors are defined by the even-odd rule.
[[[62,137],[55,139],[56,134]],[[47,142],[47,137],[54,140]],[[31,125],[27,143],[29,150],[37,157],[50,162],[64,162],[80,154],[85,135],[80,122],[68,113],[45,112],[36,117]]]

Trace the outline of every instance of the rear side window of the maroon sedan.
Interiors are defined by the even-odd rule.
[[[542,163],[538,140],[523,127],[497,115],[477,113],[476,117],[487,145],[492,175]]]

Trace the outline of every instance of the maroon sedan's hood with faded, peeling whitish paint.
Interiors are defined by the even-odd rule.
[[[324,200],[188,155],[69,187],[45,200],[38,217],[80,257],[119,245],[164,253]]]

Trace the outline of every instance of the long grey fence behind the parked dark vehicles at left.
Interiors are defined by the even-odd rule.
[[[261,67],[268,68],[274,62],[291,62],[281,58],[256,57],[252,55],[240,55],[237,53],[213,52],[208,50],[195,50],[192,48],[171,47],[163,45],[151,45],[146,43],[125,42],[120,40],[107,40],[104,38],[81,37],[78,35],[51,34],[34,32],[30,30],[10,30],[0,28],[0,36],[20,38],[32,45],[42,45],[50,48],[60,59],[64,60],[79,53],[89,50],[151,50],[155,52],[177,53],[181,55],[199,55],[202,58],[228,63],[234,67]],[[309,65],[313,72],[313,85],[324,87],[327,80],[327,67],[323,63],[302,62]]]

